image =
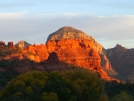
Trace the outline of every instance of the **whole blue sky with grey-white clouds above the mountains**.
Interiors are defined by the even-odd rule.
[[[45,44],[71,26],[104,48],[134,48],[134,0],[0,0],[0,40]]]

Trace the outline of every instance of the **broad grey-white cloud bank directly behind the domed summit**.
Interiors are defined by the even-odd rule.
[[[6,17],[6,19],[5,19]],[[82,13],[38,14],[29,13],[0,14],[0,40],[26,40],[30,43],[45,43],[52,32],[63,26],[72,26],[94,37],[105,48],[117,43],[133,48],[134,15],[96,16]]]

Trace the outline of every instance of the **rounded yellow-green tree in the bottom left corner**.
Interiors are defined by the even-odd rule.
[[[46,72],[28,72],[8,83],[1,91],[2,101],[41,101],[42,90],[46,84]]]

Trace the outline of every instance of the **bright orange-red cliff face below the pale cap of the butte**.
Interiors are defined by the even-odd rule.
[[[101,58],[93,42],[82,39],[51,40],[46,43],[49,53],[55,52],[60,61],[96,71],[102,79],[111,80],[101,67]]]

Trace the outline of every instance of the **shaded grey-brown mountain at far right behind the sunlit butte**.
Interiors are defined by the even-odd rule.
[[[117,78],[134,82],[134,49],[126,49],[117,44],[106,52],[114,70],[119,73]]]

